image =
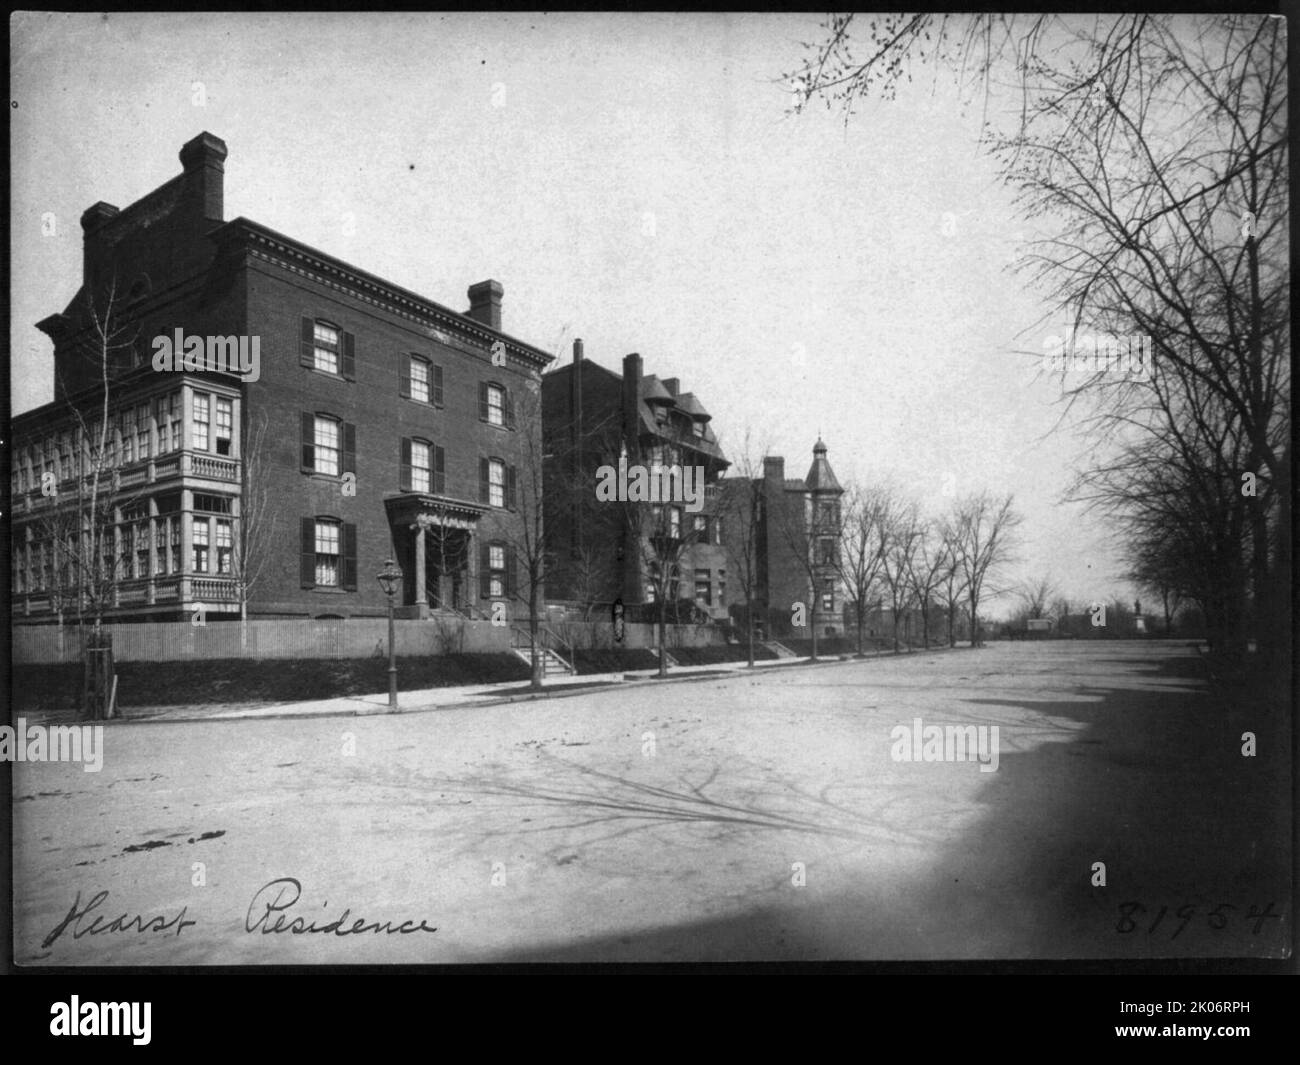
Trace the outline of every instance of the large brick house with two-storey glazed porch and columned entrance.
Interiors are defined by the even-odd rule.
[[[55,399],[13,421],[16,619],[87,596],[116,620],[240,598],[250,616],[377,615],[389,557],[402,615],[481,616],[520,590],[519,469],[541,437],[525,401],[551,355],[502,332],[495,281],[456,312],[225,221],[225,159],[203,133],[178,177],[82,216],[81,290],[39,324]],[[159,371],[153,338],[176,330],[243,338],[260,367]]]

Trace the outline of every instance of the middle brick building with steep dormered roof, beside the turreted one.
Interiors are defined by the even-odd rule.
[[[632,606],[654,602],[662,588],[671,601],[694,603],[715,619],[727,616],[716,503],[718,479],[729,463],[711,417],[693,393],[681,390],[679,378],[645,373],[640,355],[627,355],[619,375],[585,359],[582,342],[573,342],[573,360],[542,378],[552,601],[603,609],[621,598]],[[601,502],[595,492],[598,469],[618,468],[620,460],[649,469],[701,468],[701,508],[646,502],[636,506],[645,507],[637,514],[647,520],[629,520],[633,511],[625,503]],[[667,546],[656,553],[650,540]],[[650,572],[659,558],[667,567],[662,576]]]

